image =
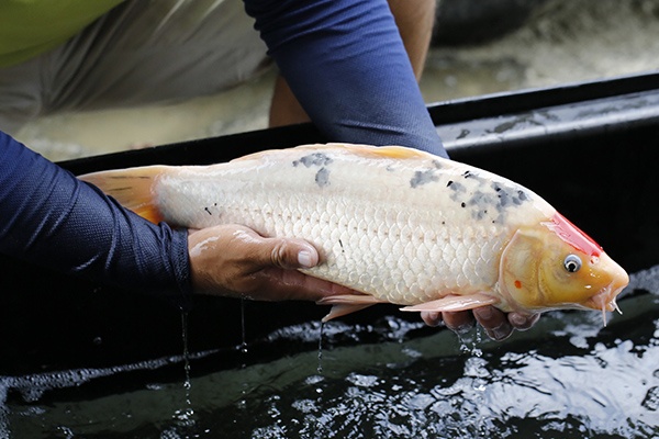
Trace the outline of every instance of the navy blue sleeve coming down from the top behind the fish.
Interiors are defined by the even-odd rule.
[[[245,7],[331,140],[447,157],[386,0],[245,0]]]

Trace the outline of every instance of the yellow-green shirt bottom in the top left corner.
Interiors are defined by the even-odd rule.
[[[123,0],[0,0],[0,67],[53,49]]]

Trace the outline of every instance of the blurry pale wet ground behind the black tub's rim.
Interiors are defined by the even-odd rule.
[[[548,0],[494,41],[434,47],[426,102],[658,68],[659,0]],[[275,72],[212,97],[168,105],[42,117],[16,137],[53,160],[267,126]]]

